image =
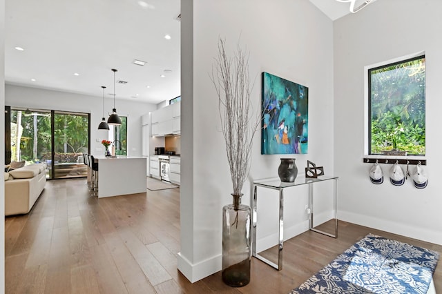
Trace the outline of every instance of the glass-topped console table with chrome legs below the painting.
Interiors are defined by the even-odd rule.
[[[314,222],[313,222],[313,188],[314,184],[318,182],[324,182],[324,181],[333,181],[334,182],[334,234],[327,233],[324,231],[320,231],[316,228],[314,228]],[[252,198],[252,210],[253,210],[253,220],[252,220],[252,255],[258,259],[260,259],[262,262],[265,262],[266,264],[269,264],[270,266],[273,266],[273,268],[276,268],[278,271],[282,269],[282,243],[284,241],[284,226],[282,222],[282,217],[284,215],[284,189],[285,188],[291,188],[295,186],[300,185],[308,185],[309,186],[309,230],[314,231],[316,233],[321,233],[323,235],[327,235],[329,237],[338,237],[338,218],[337,218],[337,208],[338,208],[338,201],[337,201],[337,190],[338,190],[338,177],[327,177],[327,176],[320,176],[316,179],[311,178],[305,178],[305,177],[296,177],[296,180],[294,183],[286,183],[281,182],[279,178],[270,178],[270,179],[258,179],[255,182],[253,182],[253,198]],[[263,257],[258,252],[256,252],[256,222],[258,213],[256,211],[256,203],[258,200],[258,193],[257,188],[269,188],[273,190],[279,190],[279,247],[278,247],[278,264],[275,264],[274,262],[271,262],[269,259]]]

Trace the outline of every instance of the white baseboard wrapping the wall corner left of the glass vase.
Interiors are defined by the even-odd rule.
[[[222,269],[222,255],[217,255],[202,262],[192,264],[180,252],[177,257],[177,268],[191,283],[208,277]]]

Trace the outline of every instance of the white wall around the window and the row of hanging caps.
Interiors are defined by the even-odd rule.
[[[442,1],[376,1],[334,22],[334,150],[339,218],[442,244]],[[364,66],[425,51],[427,188],[369,182],[364,156]],[[381,165],[384,175],[390,164]],[[413,167],[414,168],[414,167]]]

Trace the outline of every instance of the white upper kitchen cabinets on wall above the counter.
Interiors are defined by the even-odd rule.
[[[152,112],[152,136],[177,135],[181,133],[181,102]]]

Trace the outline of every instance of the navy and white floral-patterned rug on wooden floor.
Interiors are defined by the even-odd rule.
[[[427,293],[439,253],[369,234],[291,291]]]

